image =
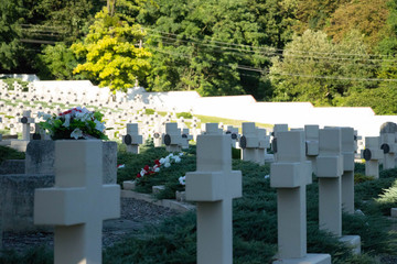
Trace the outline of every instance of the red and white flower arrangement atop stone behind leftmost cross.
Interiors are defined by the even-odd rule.
[[[60,114],[37,113],[44,122],[39,125],[49,131],[53,140],[100,139],[108,140],[104,134],[104,114],[76,107]]]

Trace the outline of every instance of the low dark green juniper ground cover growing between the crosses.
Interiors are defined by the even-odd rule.
[[[118,169],[118,183],[133,178],[144,165],[151,166],[154,160],[168,154],[163,147],[154,148],[151,143],[146,144],[139,155],[126,153],[119,145],[118,163],[126,167]],[[234,263],[271,263],[277,252],[277,193],[265,178],[269,175],[269,166],[234,160],[233,169],[243,173],[243,197],[234,200]],[[363,169],[362,164],[356,164],[357,174],[363,174]],[[149,193],[152,185],[164,184],[167,188],[158,198],[170,198],[174,189],[183,189],[178,177],[193,170],[195,146],[184,152],[180,164],[161,169],[138,185],[138,190]],[[337,238],[319,230],[318,183],[313,177],[313,184],[307,187],[308,252],[330,253],[332,262],[341,264],[384,263],[383,256],[393,257],[397,234],[387,216],[389,208],[397,207],[395,188],[397,169],[382,170],[379,179],[361,179],[355,185],[355,206],[362,213],[343,213],[343,233],[358,234],[362,239],[363,254],[353,256]],[[195,263],[195,212],[192,211],[168,218],[157,226],[147,226],[120,243],[104,249],[104,263]],[[52,257],[51,249],[37,248],[21,255],[3,252],[0,263],[52,263]]]

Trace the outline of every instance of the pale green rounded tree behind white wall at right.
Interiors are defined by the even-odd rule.
[[[374,77],[366,46],[357,32],[333,44],[324,32],[308,30],[287,44],[281,58],[270,67],[275,100],[311,101],[334,106],[341,97],[367,88]]]

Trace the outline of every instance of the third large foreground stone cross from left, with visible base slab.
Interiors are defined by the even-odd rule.
[[[278,255],[273,263],[331,263],[329,254],[307,253],[305,186],[312,183],[305,161],[303,131],[279,132],[278,161],[270,166],[270,186],[277,188]]]

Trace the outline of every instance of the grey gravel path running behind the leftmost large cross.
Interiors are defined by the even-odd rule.
[[[104,221],[103,246],[107,248],[122,240],[128,234],[141,230],[146,224],[159,223],[164,218],[179,212],[133,198],[121,198],[121,217],[116,220]],[[12,233],[4,232],[2,246],[4,250],[22,252],[37,245],[53,246],[52,232]]]

